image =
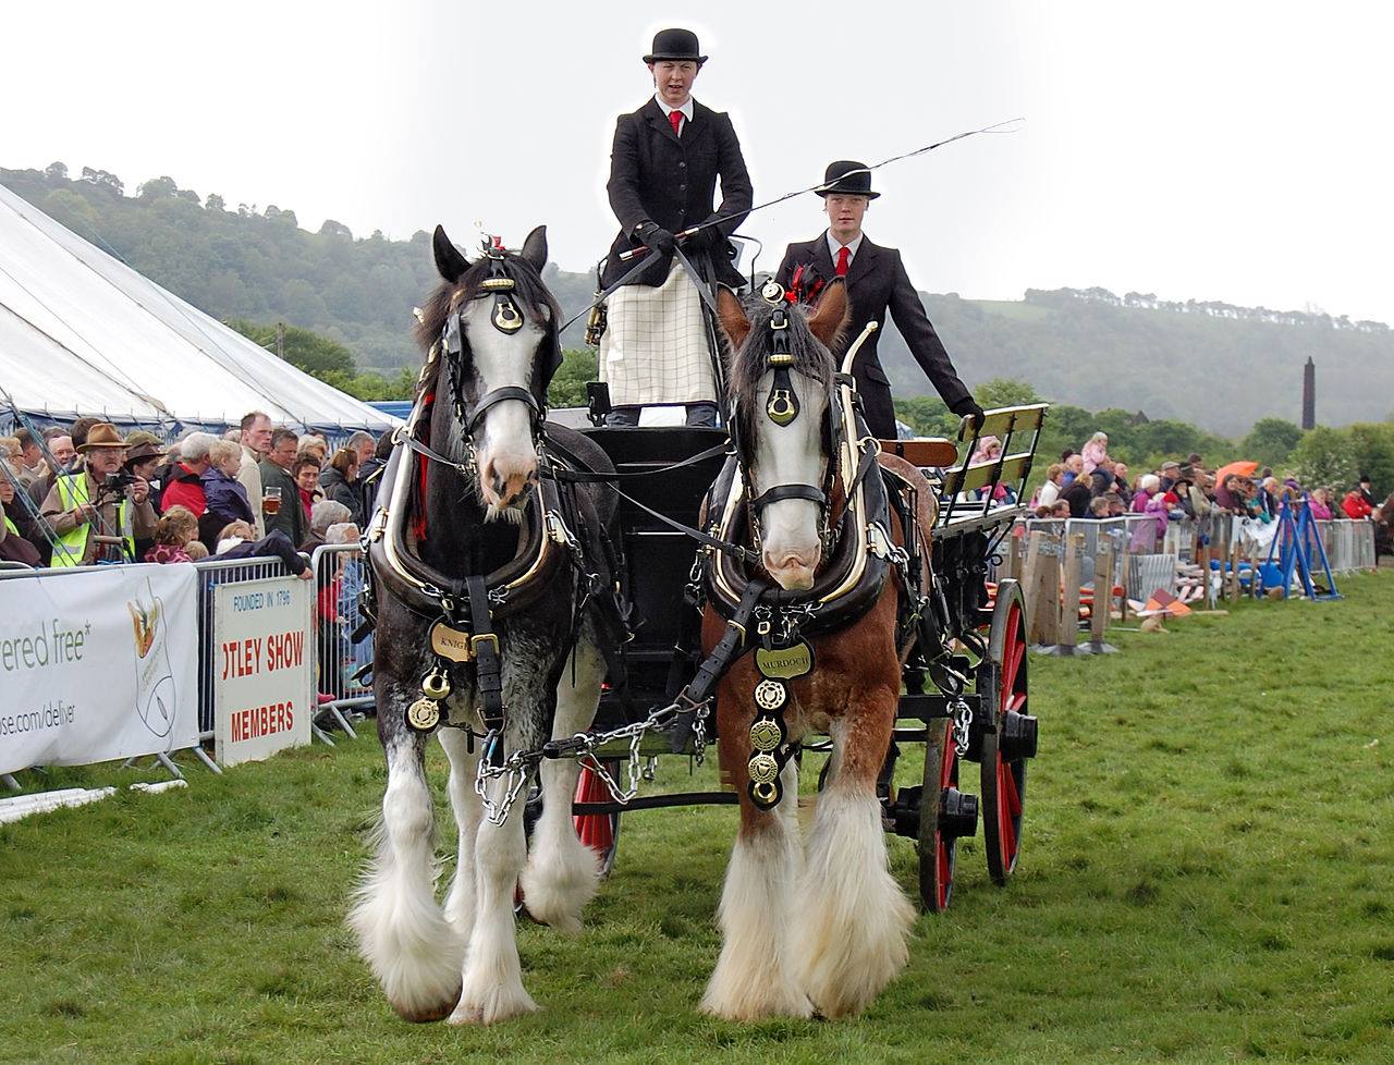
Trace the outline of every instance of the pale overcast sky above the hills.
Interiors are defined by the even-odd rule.
[[[697,13],[701,17],[697,17]],[[877,162],[868,236],[920,289],[1104,286],[1394,322],[1394,7],[1376,3],[67,3],[7,6],[0,166],[169,174],[395,238],[443,222],[587,269],[615,116],[696,29],[756,201]],[[744,230],[772,269],[802,197]]]

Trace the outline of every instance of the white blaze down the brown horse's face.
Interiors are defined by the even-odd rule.
[[[751,478],[754,491],[767,492],[778,485],[822,485],[828,461],[822,456],[822,420],[828,408],[828,394],[803,374],[790,374],[799,397],[799,417],[789,425],[776,425],[763,408],[756,411]],[[774,374],[760,381],[758,396],[769,394]],[[818,537],[820,509],[807,499],[781,499],[760,513],[764,535],[763,562],[781,587],[804,590],[813,587],[813,572],[818,566],[822,544]]]

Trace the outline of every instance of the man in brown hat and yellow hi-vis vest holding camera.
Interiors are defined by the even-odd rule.
[[[144,477],[121,470],[125,440],[98,422],[78,445],[81,468],[59,474],[43,500],[43,517],[59,539],[52,565],[135,562],[135,538],[153,537],[158,519]]]

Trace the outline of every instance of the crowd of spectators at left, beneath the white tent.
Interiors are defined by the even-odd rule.
[[[329,442],[247,414],[219,438],[194,431],[167,443],[78,418],[36,436],[0,436],[0,562],[79,566],[302,555],[333,526],[362,528],[390,434]],[[348,541],[340,541],[348,542]]]

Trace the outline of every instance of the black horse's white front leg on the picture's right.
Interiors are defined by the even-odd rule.
[[[503,802],[506,779],[489,781],[489,800]],[[514,803],[502,825],[482,821],[474,838],[475,917],[464,962],[460,1002],[452,1025],[492,1025],[537,1009],[523,988],[513,926],[513,889],[527,859],[523,804]]]

